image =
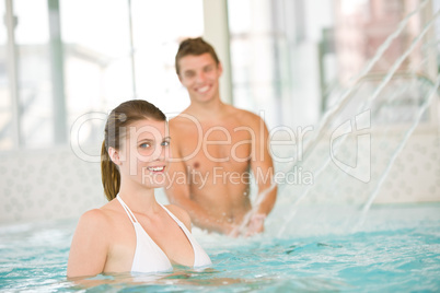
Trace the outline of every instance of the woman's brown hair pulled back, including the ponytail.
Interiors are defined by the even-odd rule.
[[[165,121],[166,116],[153,104],[143,99],[124,102],[108,115],[101,149],[101,178],[108,201],[116,198],[120,187],[120,174],[108,155],[108,148],[119,150],[119,142],[124,136],[124,131],[120,130],[142,119]]]

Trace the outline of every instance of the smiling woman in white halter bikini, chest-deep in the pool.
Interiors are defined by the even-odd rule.
[[[186,211],[163,207],[170,138],[165,115],[135,99],[108,116],[101,173],[108,203],[85,212],[73,235],[67,276],[171,271],[172,263],[206,267],[211,261],[194,239]]]

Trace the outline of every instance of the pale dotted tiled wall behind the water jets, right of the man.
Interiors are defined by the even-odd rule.
[[[279,197],[277,206],[290,204],[293,208],[291,203],[300,202],[301,204],[341,203],[363,208],[370,197],[374,203],[440,201],[439,133],[437,130],[414,132],[391,164],[394,153],[402,143],[402,137],[403,132],[371,133],[371,152],[361,153],[369,156],[370,178],[367,181],[348,175],[350,172],[338,168],[332,160],[328,160],[329,139],[324,139],[315,148],[311,160],[304,160],[301,165],[302,177],[306,172],[311,173],[313,184],[300,181],[282,186],[280,188],[282,196]],[[356,151],[356,139],[348,139],[336,157],[355,166]],[[322,168],[324,162],[328,164]]]

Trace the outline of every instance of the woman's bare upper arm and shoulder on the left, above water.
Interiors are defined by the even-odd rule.
[[[109,224],[102,210],[85,212],[70,246],[67,277],[90,277],[103,272],[108,251]]]

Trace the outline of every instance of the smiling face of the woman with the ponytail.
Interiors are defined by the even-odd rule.
[[[166,121],[143,119],[129,125],[125,131],[118,151],[121,179],[149,188],[163,187],[170,153]]]

